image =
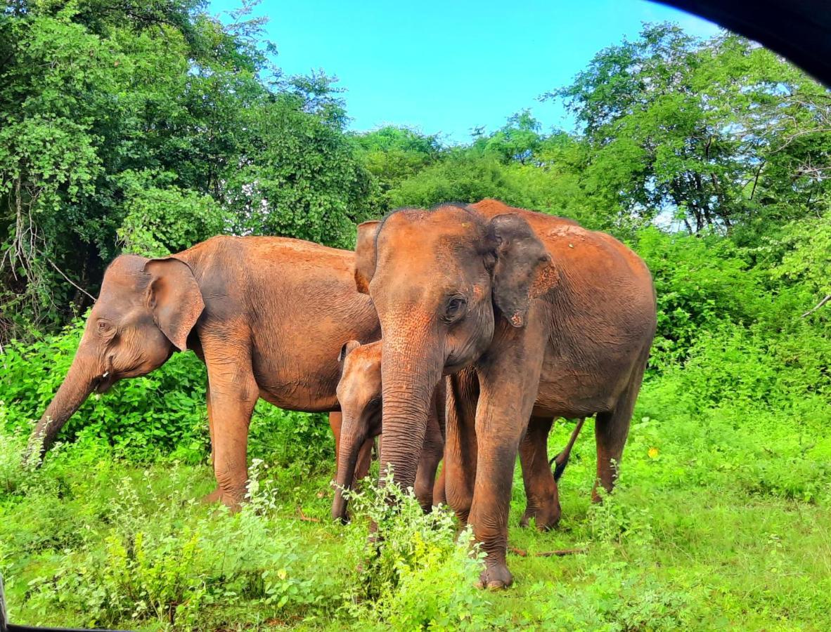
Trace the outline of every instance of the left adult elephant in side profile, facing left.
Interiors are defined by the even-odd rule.
[[[208,369],[218,483],[208,499],[237,506],[258,398],[283,409],[339,409],[338,351],[346,340],[380,336],[371,300],[356,292],[353,262],[352,252],[270,237],[215,237],[161,259],[117,257],[30,453],[42,458],[92,391],[192,349]]]

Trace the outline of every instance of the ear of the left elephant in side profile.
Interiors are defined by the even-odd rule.
[[[150,276],[147,306],[153,320],[177,349],[184,351],[188,334],[204,310],[202,292],[187,263],[174,257],[150,259],[145,263]]]

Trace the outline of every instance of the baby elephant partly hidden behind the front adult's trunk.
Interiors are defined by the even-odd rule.
[[[341,403],[342,424],[337,442],[337,474],[332,517],[346,522],[347,499],[342,490],[352,487],[359,462],[368,462],[367,439],[381,434],[381,343],[361,345],[349,340],[343,345],[339,360],[341,381],[337,384],[337,399]],[[379,440],[383,440],[382,438]],[[424,446],[416,473],[416,498],[429,512],[434,500],[435,471],[445,449],[445,385],[440,381],[433,394],[433,404],[427,419]],[[366,469],[360,468],[366,475]],[[444,487],[435,483],[436,502],[444,499]]]

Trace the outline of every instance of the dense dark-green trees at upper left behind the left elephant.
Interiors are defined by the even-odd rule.
[[[246,4],[28,2],[0,14],[0,341],[88,306],[125,246],[219,232],[350,246],[370,176],[326,76],[285,79]]]

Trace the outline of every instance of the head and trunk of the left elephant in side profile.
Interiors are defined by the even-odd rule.
[[[194,273],[174,257],[117,257],[104,273],[101,294],[86,321],[66,378],[29,438],[27,460],[39,463],[63,424],[93,392],[159,368],[204,309]]]

